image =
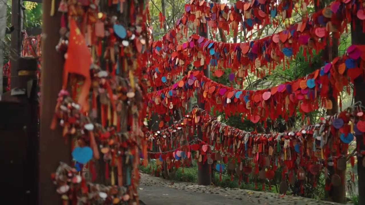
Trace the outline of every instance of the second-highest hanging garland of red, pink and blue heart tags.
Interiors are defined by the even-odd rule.
[[[337,40],[339,34],[347,30],[346,24],[352,22],[351,14],[362,19],[360,8],[362,5],[354,5],[353,1],[334,1],[314,13],[309,20],[249,43],[215,42],[196,34],[191,35],[187,42],[181,42],[181,35],[170,35],[171,38],[151,43],[152,63],[148,68],[150,85],[169,85],[171,80],[186,70],[189,63],[204,68],[206,65],[212,68],[229,67],[232,74],[237,72],[235,80],[247,76],[247,71],[255,73],[255,68],[266,66],[267,69],[262,68],[257,72],[257,76],[263,76],[281,61],[285,68],[285,57],[295,57],[300,47],[310,54],[312,49],[318,52],[326,45],[330,32],[335,34]],[[332,39],[329,42],[332,43]],[[249,65],[250,69],[247,68]],[[218,70],[215,75],[219,77],[221,73]]]

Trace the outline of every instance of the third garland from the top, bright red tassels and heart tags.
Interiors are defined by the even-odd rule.
[[[304,118],[304,113],[318,109],[320,105],[332,108],[328,100],[331,97],[328,92],[330,86],[333,96],[337,96],[344,86],[349,92],[349,82],[363,73],[364,59],[361,46],[350,46],[345,55],[311,74],[262,90],[234,89],[212,81],[201,71],[189,71],[187,76],[172,86],[148,93],[148,112],[170,113],[173,106],[184,108],[197,89],[206,109],[214,106],[214,111],[224,112],[227,116],[242,113],[242,117],[258,123],[266,122],[268,117],[275,120],[279,115],[287,119],[296,115],[299,109]]]

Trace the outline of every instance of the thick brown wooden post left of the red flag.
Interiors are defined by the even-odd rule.
[[[42,98],[41,98],[41,136],[39,140],[39,205],[61,205],[59,194],[50,178],[59,162],[71,163],[70,144],[65,144],[60,126],[50,129],[58,92],[62,87],[63,58],[55,50],[59,40],[61,13],[50,16],[51,2],[43,3],[43,42],[42,42]],[[60,0],[55,0],[59,5]]]

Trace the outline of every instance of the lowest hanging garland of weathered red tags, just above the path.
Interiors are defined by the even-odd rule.
[[[149,146],[157,146],[159,150],[149,152],[149,156],[156,159],[157,165],[162,166],[162,161],[166,161],[168,166],[177,168],[192,158],[210,165],[216,160],[216,171],[222,174],[223,170],[234,170],[240,181],[243,177],[248,180],[251,174],[256,186],[258,179],[270,182],[274,171],[282,167],[280,193],[287,192],[288,184],[299,187],[303,193],[304,183],[316,186],[316,175],[323,170],[328,176],[324,168],[335,166],[345,170],[347,158],[354,166],[354,157],[343,152],[354,140],[354,134],[364,135],[363,114],[361,103],[357,103],[335,116],[323,118],[319,124],[292,132],[257,134],[221,123],[206,111],[195,108],[169,128],[146,134]],[[202,130],[202,140],[191,139],[190,132],[196,129]],[[365,151],[358,153],[365,154]],[[339,175],[334,174],[326,189],[341,183]],[[265,183],[263,189],[264,186]]]

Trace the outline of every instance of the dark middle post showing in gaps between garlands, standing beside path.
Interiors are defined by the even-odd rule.
[[[201,23],[200,24],[200,31],[199,31],[199,35],[205,37],[205,38],[209,38],[209,32],[208,32],[208,23]],[[200,70],[203,69],[203,67],[199,68]],[[204,75],[209,78],[210,77],[210,68],[209,65],[207,65],[207,68],[204,69]],[[201,94],[198,93],[197,95],[197,101],[198,101],[198,106],[201,109],[204,109],[205,107],[205,103],[202,102],[201,100]],[[208,112],[210,112],[210,110],[208,110]],[[201,129],[197,130],[197,135],[199,139],[203,139],[203,132],[201,132]],[[203,162],[198,162],[198,185],[205,185],[208,186],[210,185],[212,178],[211,178],[211,165],[208,165],[208,163],[203,163]]]

